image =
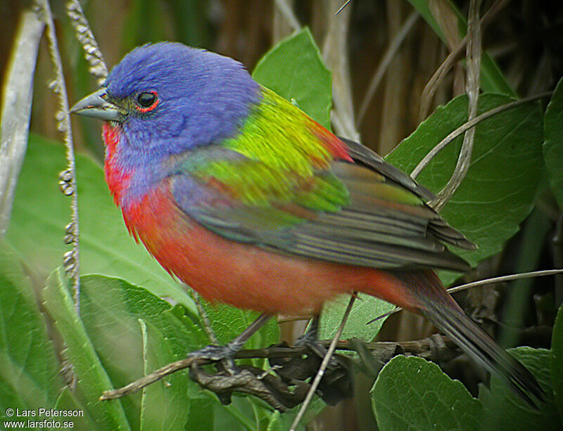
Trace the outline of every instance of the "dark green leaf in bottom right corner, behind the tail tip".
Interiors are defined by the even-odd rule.
[[[509,352],[536,377],[545,391],[545,402],[538,404],[538,410],[532,409],[519,399],[500,378],[492,375],[491,390],[486,387],[479,388],[479,400],[483,403],[486,413],[483,418],[483,430],[563,430],[559,414],[553,403],[550,351],[517,347],[510,349]]]

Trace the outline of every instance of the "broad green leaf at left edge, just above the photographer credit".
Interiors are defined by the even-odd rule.
[[[6,409],[51,408],[62,383],[34,290],[0,240],[0,417]]]

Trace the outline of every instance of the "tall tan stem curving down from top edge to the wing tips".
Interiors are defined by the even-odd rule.
[[[479,22],[479,6],[481,0],[471,0],[469,2],[469,13],[467,16],[467,120],[471,121],[477,115],[477,103],[479,102],[479,74],[481,72],[481,23]],[[475,129],[469,129],[463,137],[460,155],[457,158],[454,172],[448,184],[438,192],[436,199],[428,202],[434,210],[439,211],[455,193],[462,183],[469,165],[473,152]]]

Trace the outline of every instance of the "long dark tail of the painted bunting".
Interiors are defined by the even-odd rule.
[[[488,371],[505,380],[521,399],[537,409],[530,394],[543,401],[545,392],[536,378],[469,319],[443,288],[434,271],[397,271],[393,275],[417,292],[421,314]]]

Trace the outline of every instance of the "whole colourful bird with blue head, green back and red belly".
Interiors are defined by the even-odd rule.
[[[273,314],[318,316],[362,292],[422,314],[528,404],[543,400],[436,275],[469,270],[448,247],[476,245],[426,204],[434,195],[241,63],[146,44],[70,111],[105,120],[106,182],[134,239],[205,299],[262,312],[227,354]]]

